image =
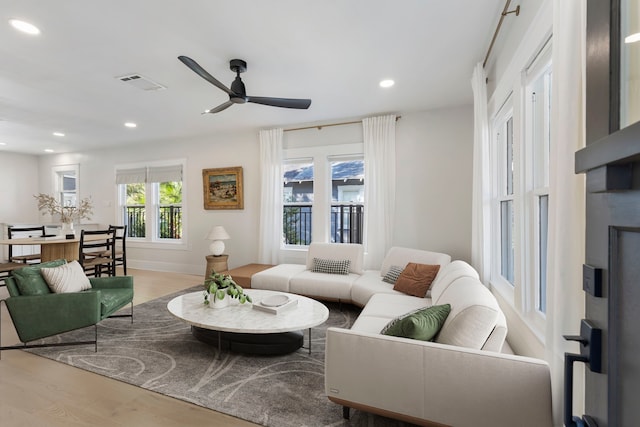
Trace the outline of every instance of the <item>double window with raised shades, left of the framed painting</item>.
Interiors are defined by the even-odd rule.
[[[138,241],[183,238],[183,165],[118,169],[119,210],[127,235]]]

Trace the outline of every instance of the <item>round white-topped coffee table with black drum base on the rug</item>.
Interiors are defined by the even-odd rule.
[[[286,295],[295,299],[297,304],[277,314],[255,309],[250,303],[240,304],[235,299],[225,308],[211,308],[203,304],[202,292],[197,291],[172,299],[167,309],[189,323],[197,339],[217,344],[219,351],[225,348],[252,354],[291,353],[303,346],[304,334],[301,331],[308,329],[311,353],[311,328],[321,325],[329,317],[329,309],[324,304],[285,292],[245,289],[245,293],[254,304],[273,295]]]

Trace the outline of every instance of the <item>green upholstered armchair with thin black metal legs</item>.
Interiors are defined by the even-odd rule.
[[[107,317],[131,317],[133,322],[133,277],[90,278],[89,290],[52,293],[40,275],[40,268],[61,264],[64,264],[63,260],[31,265],[16,270],[5,279],[9,297],[3,301],[23,345],[0,346],[0,351],[78,344],[94,344],[97,351],[98,322]],[[128,304],[131,304],[130,314],[114,314]],[[27,344],[88,326],[94,326],[95,339],[92,341]]]

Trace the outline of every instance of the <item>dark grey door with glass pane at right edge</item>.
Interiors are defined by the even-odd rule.
[[[587,146],[576,153],[576,172],[587,177],[585,311],[589,324],[602,331],[602,363],[601,372],[592,371],[587,363],[587,416],[569,424],[636,426],[640,425],[640,123],[619,130],[620,2],[587,4]]]

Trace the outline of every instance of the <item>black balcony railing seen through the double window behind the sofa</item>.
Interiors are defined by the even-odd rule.
[[[285,205],[282,225],[287,245],[307,246],[311,243],[311,206]],[[331,241],[362,243],[364,205],[331,205]]]

